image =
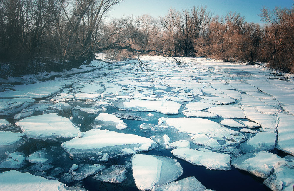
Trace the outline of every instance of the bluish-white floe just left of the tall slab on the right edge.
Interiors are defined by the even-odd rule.
[[[275,148],[276,137],[276,133],[259,132],[248,140],[248,144],[259,148],[266,148],[266,150],[273,150]]]

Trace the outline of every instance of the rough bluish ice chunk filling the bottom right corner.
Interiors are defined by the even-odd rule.
[[[275,163],[274,173],[263,184],[271,190],[292,191],[294,185],[294,162]]]

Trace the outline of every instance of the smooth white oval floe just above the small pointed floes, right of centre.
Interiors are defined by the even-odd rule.
[[[246,118],[244,111],[232,105],[220,105],[216,107],[211,107],[207,111],[217,114],[222,118]]]

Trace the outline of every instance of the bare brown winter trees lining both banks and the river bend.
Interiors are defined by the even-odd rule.
[[[120,1],[0,0],[0,67],[9,64],[16,74],[60,71],[89,64],[101,51],[119,60],[134,50],[156,50],[268,62],[270,67],[294,72],[294,7],[263,8],[264,26],[246,22],[239,13],[215,16],[204,6],[169,9],[159,18],[106,19]]]

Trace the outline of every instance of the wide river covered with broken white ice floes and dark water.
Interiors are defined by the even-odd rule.
[[[0,190],[292,191],[293,83],[262,65],[141,60],[151,72],[128,60],[2,86]]]

